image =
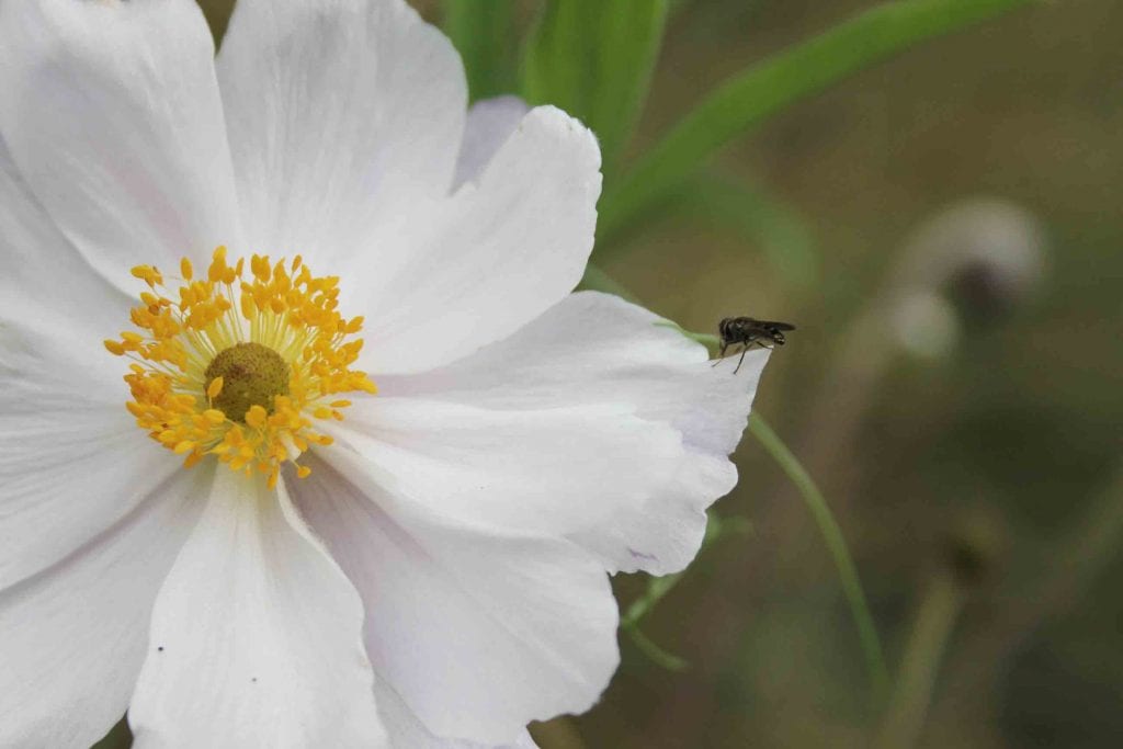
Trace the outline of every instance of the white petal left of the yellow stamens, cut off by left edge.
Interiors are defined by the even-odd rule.
[[[124,295],[62,237],[2,140],[0,253],[3,587],[131,512],[179,460],[136,428],[125,363],[101,345],[127,321]]]

